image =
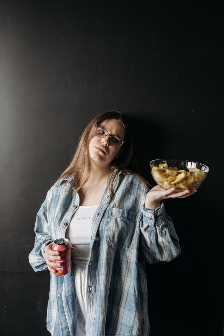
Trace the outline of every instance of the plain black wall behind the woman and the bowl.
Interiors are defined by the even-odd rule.
[[[223,334],[221,3],[0,2],[2,334],[49,335],[49,272],[28,262],[36,214],[81,130],[112,109],[151,183],[152,159],[210,167],[198,194],[165,201],[182,253],[147,266],[150,336]]]

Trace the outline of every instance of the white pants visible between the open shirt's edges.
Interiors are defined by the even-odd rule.
[[[86,336],[88,261],[72,258],[78,336]]]

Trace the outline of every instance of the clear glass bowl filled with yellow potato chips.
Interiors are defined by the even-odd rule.
[[[152,177],[164,189],[177,191],[198,188],[209,172],[209,167],[195,161],[157,159],[150,161]]]

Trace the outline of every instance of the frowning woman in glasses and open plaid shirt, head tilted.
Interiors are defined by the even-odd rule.
[[[185,198],[136,173],[131,133],[107,111],[83,131],[68,168],[37,214],[35,271],[51,272],[47,329],[54,336],[149,335],[145,262],[170,261],[179,241],[162,200]],[[73,245],[72,272],[56,276],[53,241]]]

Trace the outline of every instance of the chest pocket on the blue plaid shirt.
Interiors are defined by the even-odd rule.
[[[138,241],[138,220],[141,213],[118,208],[110,209],[107,243],[112,248],[133,249]]]

